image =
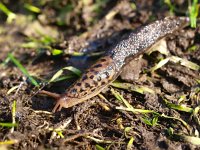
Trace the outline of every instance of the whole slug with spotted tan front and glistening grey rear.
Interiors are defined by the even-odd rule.
[[[133,58],[147,51],[158,40],[183,28],[189,22],[187,17],[166,17],[132,31],[116,43],[94,65],[85,71],[64,94],[48,91],[41,93],[54,97],[57,103],[53,112],[68,108],[99,94],[121,73],[122,68]]]

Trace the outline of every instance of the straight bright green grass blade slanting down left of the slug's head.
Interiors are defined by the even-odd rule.
[[[11,54],[8,54],[8,57],[10,58],[10,60],[21,70],[21,72],[28,77],[28,79],[31,81],[31,83],[35,86],[39,86],[39,84],[37,83],[37,81],[31,77],[31,75],[28,73],[28,71],[26,70],[26,68],[23,67],[23,65]]]

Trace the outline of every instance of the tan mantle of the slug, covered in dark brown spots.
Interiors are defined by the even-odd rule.
[[[115,68],[112,67],[113,60],[110,59],[110,56],[105,56],[102,59],[105,59],[106,61],[101,62],[100,59],[83,74],[74,87],[71,87],[70,91],[72,91],[73,88],[76,88],[77,92],[69,92],[70,97],[87,97],[88,95],[101,90],[102,87],[112,80],[113,74],[117,73]]]

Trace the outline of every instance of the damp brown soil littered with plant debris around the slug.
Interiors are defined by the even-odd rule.
[[[95,96],[72,108],[52,113],[55,100],[38,94],[38,91],[64,93],[78,79],[74,75],[71,79],[47,84],[46,81],[58,70],[74,66],[84,71],[128,32],[171,15],[169,8],[157,0],[106,0],[98,5],[95,5],[98,1],[62,0],[48,1],[41,7],[38,2],[32,2],[41,9],[40,13],[33,13],[20,7],[27,1],[3,2],[17,14],[17,19],[7,23],[6,15],[0,12],[3,16],[0,18],[0,123],[13,122],[13,103],[16,102],[14,118],[17,126],[0,126],[0,148],[200,149],[200,142],[195,144],[184,138],[198,138],[200,132],[197,110],[200,105],[199,68],[195,70],[181,62],[169,61],[151,71],[160,60],[172,56],[198,66],[199,26],[195,29],[188,26],[165,38],[166,47],[161,49],[167,54],[156,50],[131,61],[115,81],[128,83],[129,88],[111,84],[101,92],[105,98]],[[68,8],[68,4],[69,10],[63,9]],[[174,15],[185,15],[186,1],[175,0],[173,4],[176,7]],[[70,6],[73,6],[72,10]],[[91,9],[96,7],[95,11]],[[36,45],[27,46],[31,42]],[[62,54],[55,56],[52,49],[60,49]],[[20,61],[40,83],[39,87],[16,67],[8,53]],[[71,74],[65,72],[65,75]],[[13,87],[17,88],[8,93]],[[138,92],[136,87],[146,87],[146,90]],[[117,109],[126,105],[117,100],[113,90],[133,108],[154,113]],[[192,112],[177,109],[172,104],[187,106]],[[5,141],[13,143],[1,144]]]

